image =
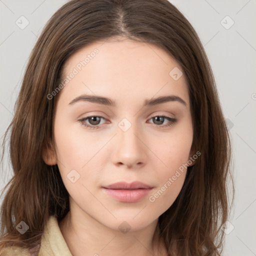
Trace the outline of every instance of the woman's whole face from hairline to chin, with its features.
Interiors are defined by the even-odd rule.
[[[80,216],[116,230],[126,221],[137,230],[166,211],[183,185],[193,138],[188,87],[179,64],[160,48],[129,39],[102,43],[65,63],[56,154],[45,162],[58,164]],[[133,181],[143,184],[129,187]],[[126,183],[110,186],[116,182]]]

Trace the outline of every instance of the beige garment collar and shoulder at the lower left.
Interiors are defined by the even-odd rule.
[[[50,216],[41,238],[38,254],[31,254],[28,249],[9,246],[0,251],[0,256],[72,256],[59,229],[56,217]]]

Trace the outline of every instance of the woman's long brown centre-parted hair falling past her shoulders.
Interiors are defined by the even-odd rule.
[[[61,220],[69,211],[68,192],[58,166],[43,161],[54,146],[52,123],[63,64],[82,47],[124,36],[154,44],[182,67],[189,84],[193,120],[192,148],[201,155],[187,169],[173,204],[159,216],[160,237],[169,255],[220,255],[221,225],[228,219],[231,143],[209,61],[195,30],[168,0],[71,0],[46,23],[32,49],[15,103],[10,130],[13,176],[1,205],[0,248],[12,242],[40,242],[49,215]],[[29,229],[15,229],[20,221]],[[176,252],[175,252],[176,251]],[[174,253],[175,252],[175,253]]]

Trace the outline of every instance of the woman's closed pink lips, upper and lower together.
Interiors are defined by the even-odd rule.
[[[131,183],[117,182],[103,187],[103,191],[121,202],[136,202],[145,197],[151,186],[139,181]]]

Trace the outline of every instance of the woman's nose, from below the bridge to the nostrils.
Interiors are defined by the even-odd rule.
[[[115,165],[126,165],[127,168],[132,169],[140,168],[146,162],[147,147],[146,142],[143,141],[145,138],[139,132],[137,125],[131,123],[125,125],[131,126],[127,130],[121,125],[117,127],[111,160]]]

